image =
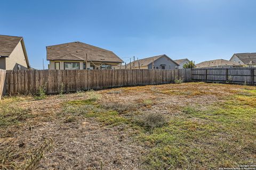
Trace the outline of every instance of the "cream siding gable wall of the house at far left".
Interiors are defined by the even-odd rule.
[[[21,69],[28,67],[20,42],[14,48],[11,55],[9,57],[6,57],[5,60],[6,60],[6,70],[17,70],[18,69],[17,64],[21,65]]]

